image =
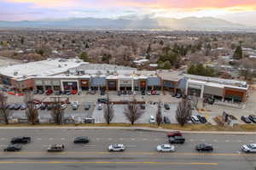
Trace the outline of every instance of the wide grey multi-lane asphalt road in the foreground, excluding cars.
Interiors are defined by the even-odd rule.
[[[23,150],[0,154],[2,170],[157,169],[157,170],[254,170],[256,154],[241,152],[241,144],[256,143],[254,135],[185,134],[186,143],[176,152],[158,153],[157,144],[167,144],[166,133],[134,130],[9,129],[0,131],[0,150],[12,137],[32,136]],[[90,137],[89,144],[73,144],[76,136]],[[123,153],[109,153],[109,144],[122,143]],[[198,153],[195,144],[213,144],[212,153]],[[61,153],[47,153],[49,144],[65,144]]]

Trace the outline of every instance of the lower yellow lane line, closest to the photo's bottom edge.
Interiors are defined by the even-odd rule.
[[[0,164],[157,164],[157,165],[207,165],[208,162],[165,162],[165,161],[0,161]]]

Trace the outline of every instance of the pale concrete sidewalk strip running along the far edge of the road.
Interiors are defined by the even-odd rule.
[[[118,129],[118,130],[143,130],[154,132],[171,132],[172,129],[152,127],[0,127],[1,129]],[[256,132],[228,132],[228,131],[180,131],[186,134],[225,134],[225,135],[256,135]]]

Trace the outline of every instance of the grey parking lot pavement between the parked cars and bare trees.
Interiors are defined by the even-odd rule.
[[[137,95],[118,95],[117,92],[109,92],[109,99],[111,101],[129,101],[133,98],[137,99],[137,101],[143,101],[145,102],[146,109],[144,110],[143,116],[137,121],[137,123],[148,123],[150,116],[155,116],[157,111],[157,102],[161,101],[162,103],[168,104],[170,106],[170,110],[166,110],[164,107],[162,107],[162,116],[167,116],[171,123],[177,123],[176,121],[176,110],[177,110],[177,104],[180,101],[180,99],[177,99],[175,97],[172,97],[172,94],[166,93],[160,94],[160,95],[141,95],[137,93]],[[9,104],[22,104],[23,102],[23,96],[15,96],[15,95],[9,95]],[[36,94],[34,95],[35,99],[38,100],[49,100],[50,98],[53,98],[54,95],[45,95],[45,94]],[[104,117],[103,117],[103,110],[99,111],[97,110],[97,106],[99,105],[96,101],[99,98],[106,98],[107,95],[101,95],[100,93],[96,94],[87,94],[86,92],[83,92],[82,94],[75,94],[75,95],[62,95],[64,98],[68,98],[70,102],[79,101],[79,108],[76,111],[73,111],[72,106],[68,105],[65,110],[65,117],[66,119],[84,119],[86,117],[91,117],[95,119],[96,123],[104,123]],[[212,125],[216,125],[217,123],[213,120],[213,117],[215,116],[221,116],[223,111],[226,111],[227,113],[236,116],[238,119],[237,122],[244,124],[245,122],[242,122],[240,117],[245,115],[248,116],[250,114],[254,114],[254,101],[256,100],[256,97],[251,94],[250,98],[247,101],[247,107],[245,109],[238,109],[238,108],[232,108],[224,105],[207,105],[206,110],[207,111],[201,111],[198,113],[197,111],[193,111],[193,115],[202,115],[206,116],[207,122],[210,122]],[[89,111],[84,110],[84,105],[91,105]],[[114,117],[112,122],[124,122],[128,123],[124,116],[125,111],[125,105],[113,105],[113,111],[114,111]],[[201,104],[199,104],[199,108],[201,108]],[[14,118],[19,117],[26,117],[25,111],[14,111],[13,114]],[[39,118],[41,122],[49,122],[50,119],[50,111],[39,110]]]

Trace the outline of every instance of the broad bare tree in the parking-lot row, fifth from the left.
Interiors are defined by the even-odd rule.
[[[141,109],[140,105],[137,104],[137,100],[135,98],[128,103],[124,111],[125,117],[129,122],[131,122],[131,125],[141,118],[143,113],[144,111]]]

